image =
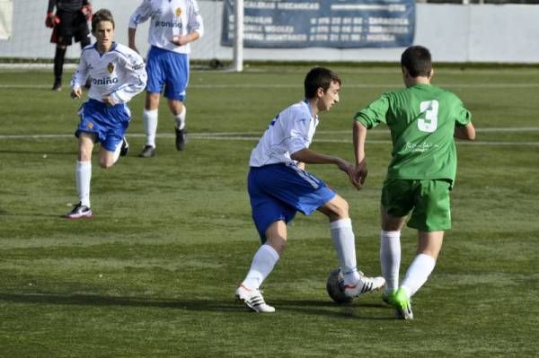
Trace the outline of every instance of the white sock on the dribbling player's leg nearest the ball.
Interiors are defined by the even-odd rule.
[[[352,221],[340,219],[330,223],[331,238],[344,275],[344,284],[356,284],[359,280],[356,263],[356,239],[352,231]]]

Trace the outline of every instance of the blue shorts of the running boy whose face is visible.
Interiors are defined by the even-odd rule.
[[[109,152],[114,152],[126,134],[131,119],[131,112],[125,103],[108,106],[99,100],[87,100],[78,114],[81,122],[75,136],[81,132],[95,134],[96,142]]]

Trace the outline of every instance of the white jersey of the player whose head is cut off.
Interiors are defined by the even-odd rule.
[[[204,24],[196,0],[143,0],[129,18],[129,28],[137,29],[139,23],[149,18],[148,42],[156,48],[189,54],[190,44],[177,46],[172,43],[172,38],[195,31],[199,32],[199,38],[204,34]]]

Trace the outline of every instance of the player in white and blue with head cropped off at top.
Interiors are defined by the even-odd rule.
[[[151,18],[146,58],[148,85],[143,113],[146,145],[140,157],[155,155],[157,109],[164,87],[164,97],[174,118],[176,149],[183,150],[186,141],[186,108],[183,104],[189,83],[190,42],[204,33],[199,4],[196,0],[143,0],[129,19],[129,47],[137,50],[135,35],[139,23]]]

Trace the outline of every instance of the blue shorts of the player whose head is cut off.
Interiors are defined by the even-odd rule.
[[[169,100],[184,100],[189,83],[189,58],[163,48],[152,46],[146,60],[148,83],[146,92],[161,93]]]

